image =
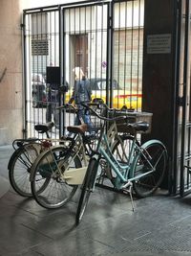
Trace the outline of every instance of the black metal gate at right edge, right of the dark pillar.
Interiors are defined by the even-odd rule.
[[[191,192],[190,13],[191,1],[179,1],[173,193],[181,197]]]

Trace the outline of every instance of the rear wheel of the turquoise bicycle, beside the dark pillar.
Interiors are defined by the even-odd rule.
[[[134,177],[143,175],[151,169],[147,157],[155,166],[155,172],[143,175],[133,182],[137,197],[145,198],[154,194],[162,182],[167,165],[167,151],[164,145],[157,140],[151,140],[143,144],[141,151],[144,152],[146,157],[142,153],[138,153],[134,163]]]

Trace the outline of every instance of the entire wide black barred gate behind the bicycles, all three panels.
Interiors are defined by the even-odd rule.
[[[143,0],[24,11],[25,136],[38,135],[35,124],[53,121],[52,136],[59,137],[74,123],[73,113],[55,107],[69,101],[79,71],[91,82],[94,102],[140,109],[143,19]],[[50,67],[58,72],[52,82]]]

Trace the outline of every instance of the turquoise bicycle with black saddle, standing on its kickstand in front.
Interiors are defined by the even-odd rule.
[[[146,122],[128,124],[128,118],[127,126],[133,131],[130,151],[126,153],[122,150],[121,157],[117,159],[111,151],[109,138],[111,132],[117,135],[118,117],[102,117],[92,107],[88,105],[84,106],[100,120],[103,120],[104,124],[100,131],[96,151],[90,159],[81,187],[75,217],[76,225],[82,220],[90,195],[95,190],[97,166],[101,157],[104,157],[110,166],[106,171],[109,173],[107,176],[111,179],[114,187],[117,190],[129,188],[132,204],[132,189],[134,189],[136,195],[140,198],[154,194],[161,184],[167,164],[167,151],[163,143],[159,140],[153,139],[145,142],[143,145],[138,144],[137,133],[148,130],[149,124]],[[121,117],[121,119],[124,118]],[[112,122],[112,125],[106,133],[104,128],[107,122]]]

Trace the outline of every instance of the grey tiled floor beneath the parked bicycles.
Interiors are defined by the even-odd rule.
[[[11,147],[0,147],[2,184],[8,180]],[[3,181],[2,181],[3,180]],[[79,226],[74,225],[77,196],[67,206],[46,210],[5,186],[0,198],[0,255],[191,255],[191,197],[160,193],[136,199],[97,188]]]

